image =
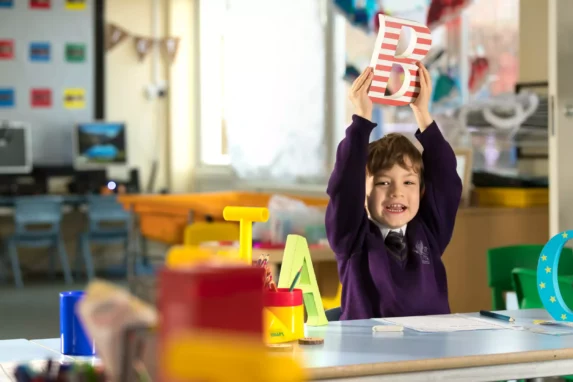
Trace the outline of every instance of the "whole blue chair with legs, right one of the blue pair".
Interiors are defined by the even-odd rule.
[[[124,266],[127,264],[131,214],[123,209],[115,195],[88,195],[88,230],[78,238],[76,272],[80,271],[80,260],[86,267],[88,279],[95,277],[90,244],[123,244]],[[106,226],[108,225],[108,226]]]

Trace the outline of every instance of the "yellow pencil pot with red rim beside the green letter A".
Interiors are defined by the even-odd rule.
[[[263,319],[267,343],[296,341],[304,337],[304,305],[302,290],[279,288],[265,292]]]

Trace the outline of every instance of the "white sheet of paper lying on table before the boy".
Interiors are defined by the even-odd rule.
[[[465,330],[509,329],[505,323],[489,322],[458,314],[444,316],[393,317],[377,321],[402,325],[418,332],[458,332]]]

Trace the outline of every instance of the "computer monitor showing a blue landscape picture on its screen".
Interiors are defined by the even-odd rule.
[[[74,135],[74,167],[127,165],[125,123],[80,123]]]

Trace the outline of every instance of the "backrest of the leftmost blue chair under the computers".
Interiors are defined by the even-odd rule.
[[[16,234],[58,234],[62,221],[62,202],[59,196],[21,196],[14,200]],[[41,231],[34,226],[46,226]]]

